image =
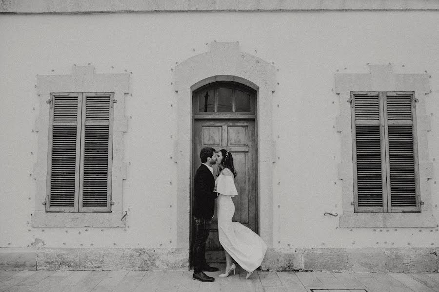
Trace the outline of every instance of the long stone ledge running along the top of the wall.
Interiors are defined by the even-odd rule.
[[[92,0],[5,0],[0,13],[96,13],[96,12],[164,12],[164,11],[346,11],[346,10],[439,10],[431,0],[341,1],[341,0],[160,0],[160,1],[92,1]]]

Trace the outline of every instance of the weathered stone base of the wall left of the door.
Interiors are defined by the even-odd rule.
[[[0,271],[18,270],[187,270],[185,249],[1,248]]]

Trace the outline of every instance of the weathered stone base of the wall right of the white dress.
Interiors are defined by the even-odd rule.
[[[269,249],[262,270],[438,272],[438,248]]]

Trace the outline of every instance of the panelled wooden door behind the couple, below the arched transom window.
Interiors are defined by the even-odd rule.
[[[224,148],[232,153],[235,169],[238,171],[235,178],[238,196],[232,198],[235,204],[235,215],[232,220],[257,232],[255,121],[251,119],[195,120],[193,173],[201,164],[202,147],[213,147],[217,151]],[[218,165],[214,165],[213,168],[217,178]],[[206,243],[206,260],[210,263],[225,262],[218,238],[216,212]]]

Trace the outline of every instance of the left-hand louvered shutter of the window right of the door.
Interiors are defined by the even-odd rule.
[[[354,209],[386,212],[382,98],[379,92],[352,92]]]

